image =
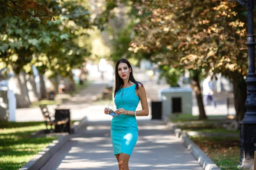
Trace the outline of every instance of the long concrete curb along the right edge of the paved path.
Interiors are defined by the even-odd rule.
[[[172,125],[172,122],[168,119],[164,119],[167,127],[175,133],[177,138],[181,138],[184,146],[192,153],[198,163],[204,170],[221,170],[205,153],[201,150],[191,139],[189,139],[187,133],[183,133],[181,129]]]

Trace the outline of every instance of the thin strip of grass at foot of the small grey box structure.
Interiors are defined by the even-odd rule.
[[[226,118],[226,115],[220,115],[220,116],[207,116],[208,119],[204,121],[218,121],[223,120]],[[199,116],[193,116],[192,114],[178,114],[178,115],[171,115],[170,119],[172,122],[189,122],[189,121],[198,121]]]

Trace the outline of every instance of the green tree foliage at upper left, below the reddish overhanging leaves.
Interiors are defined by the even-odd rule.
[[[79,43],[88,36],[90,12],[71,1],[51,1],[48,6],[55,22],[44,20],[47,24],[38,25],[17,16],[0,18],[0,69],[31,73],[35,65],[41,75],[70,77],[70,70],[90,55],[90,48]]]

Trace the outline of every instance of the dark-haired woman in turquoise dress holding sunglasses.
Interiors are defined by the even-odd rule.
[[[130,62],[119,59],[116,62],[116,88],[114,92],[116,115],[111,121],[113,155],[118,161],[119,170],[129,170],[128,161],[138,139],[136,116],[148,116],[148,102],[145,88],[133,77]],[[135,111],[141,101],[142,110]],[[109,114],[105,108],[104,113]]]

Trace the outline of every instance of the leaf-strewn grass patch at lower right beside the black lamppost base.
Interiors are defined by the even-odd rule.
[[[221,170],[240,170],[239,137],[190,137]]]

